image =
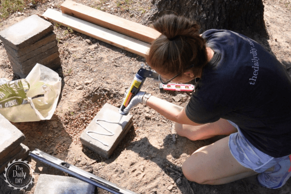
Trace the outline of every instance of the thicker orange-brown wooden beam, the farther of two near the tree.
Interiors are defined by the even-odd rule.
[[[61,4],[62,13],[77,17],[84,21],[96,24],[103,28],[127,35],[146,43],[153,42],[161,33],[153,28],[129,21],[122,17],[82,5],[80,3],[66,0]]]

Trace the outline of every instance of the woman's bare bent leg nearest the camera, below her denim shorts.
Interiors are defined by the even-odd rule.
[[[258,174],[243,167],[230,153],[228,136],[197,149],[182,165],[184,176],[199,184],[225,184]]]

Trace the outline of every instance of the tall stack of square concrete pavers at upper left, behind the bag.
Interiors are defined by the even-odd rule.
[[[14,74],[26,78],[37,63],[61,67],[56,34],[50,22],[32,15],[0,32]]]

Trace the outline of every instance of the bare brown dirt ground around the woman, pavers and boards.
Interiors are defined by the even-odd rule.
[[[142,23],[150,10],[150,0],[75,0],[102,11]],[[23,13],[15,13],[0,24],[3,30],[48,8],[60,10],[64,0],[45,0]],[[263,0],[264,19],[269,37],[253,38],[275,54],[291,74],[291,2]],[[109,180],[137,194],[291,194],[291,180],[281,189],[270,190],[257,184],[256,177],[225,185],[211,186],[189,182],[181,173],[182,163],[199,147],[221,137],[190,141],[173,132],[173,123],[146,106],[130,113],[133,127],[110,159],[81,145],[79,136],[105,103],[119,107],[143,57],[116,48],[78,32],[54,24],[59,41],[63,80],[60,102],[51,120],[13,123],[26,136],[23,144],[38,148],[65,162]],[[0,78],[13,77],[6,51],[0,43]],[[272,78],[270,78],[272,79]],[[146,80],[142,90],[185,106],[191,93],[166,92],[159,84]],[[0,191],[0,194],[33,194],[40,174],[63,175],[42,162],[27,158],[35,171],[35,184],[25,191]],[[98,189],[99,194],[108,192]]]

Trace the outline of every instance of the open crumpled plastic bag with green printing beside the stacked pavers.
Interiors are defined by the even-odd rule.
[[[0,114],[11,122],[51,119],[61,93],[61,78],[36,64],[25,79],[0,79]]]

